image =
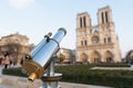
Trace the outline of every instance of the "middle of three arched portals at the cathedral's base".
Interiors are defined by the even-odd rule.
[[[100,63],[101,62],[101,54],[98,52],[98,51],[93,51],[91,54],[90,54],[90,61],[92,63]]]

